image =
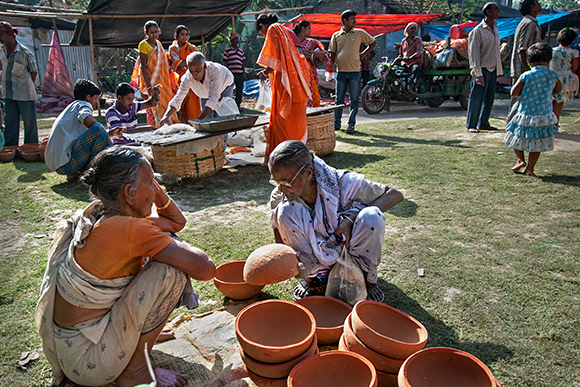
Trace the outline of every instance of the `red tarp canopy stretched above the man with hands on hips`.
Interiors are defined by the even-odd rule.
[[[356,15],[356,27],[361,28],[371,35],[388,34],[389,32],[404,29],[410,22],[423,23],[444,16],[443,13],[426,15]],[[333,33],[340,30],[342,20],[339,13],[310,13],[304,14],[288,23],[287,27],[308,20],[312,24],[312,37],[330,38]]]

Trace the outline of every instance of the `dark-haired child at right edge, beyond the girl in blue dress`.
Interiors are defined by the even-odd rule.
[[[554,114],[560,121],[560,114],[564,107],[564,102],[572,101],[578,93],[578,75],[574,71],[578,68],[578,50],[570,47],[578,34],[572,28],[566,27],[558,33],[558,43],[560,45],[553,51],[550,70],[558,73],[560,82],[562,82],[562,91],[554,96],[552,102]]]

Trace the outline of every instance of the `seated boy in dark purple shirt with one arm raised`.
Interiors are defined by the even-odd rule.
[[[107,109],[105,119],[107,130],[113,143],[123,144],[119,138],[126,131],[137,129],[137,112],[153,107],[159,101],[159,89],[153,88],[152,96],[147,101],[135,101],[135,89],[127,82],[119,83],[115,91],[117,100]]]

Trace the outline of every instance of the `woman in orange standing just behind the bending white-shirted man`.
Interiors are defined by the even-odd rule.
[[[179,74],[179,82],[181,83],[181,77],[187,72],[187,64],[185,59],[192,52],[197,51],[197,48],[189,40],[189,29],[184,25],[179,25],[175,28],[175,40],[173,44],[169,46],[169,63],[171,64],[171,70]],[[183,103],[181,104],[181,117],[180,121],[187,124],[189,120],[196,119],[201,114],[201,104],[199,102],[199,97],[195,95],[191,90]]]

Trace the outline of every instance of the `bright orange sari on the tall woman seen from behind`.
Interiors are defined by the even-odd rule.
[[[288,30],[275,23],[268,28],[258,64],[270,67],[272,108],[268,126],[266,159],[278,144],[286,140],[306,143],[306,103],[310,93],[310,65],[300,54]]]

